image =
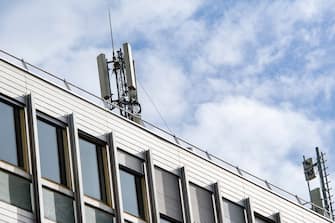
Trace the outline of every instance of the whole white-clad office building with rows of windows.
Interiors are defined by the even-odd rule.
[[[0,222],[332,222],[247,171],[0,54]]]

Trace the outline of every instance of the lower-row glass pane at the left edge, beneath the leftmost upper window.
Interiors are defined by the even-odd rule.
[[[31,211],[30,182],[0,171],[0,200]]]

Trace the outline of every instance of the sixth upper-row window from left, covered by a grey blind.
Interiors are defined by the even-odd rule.
[[[190,196],[194,222],[215,223],[212,193],[190,184]]]

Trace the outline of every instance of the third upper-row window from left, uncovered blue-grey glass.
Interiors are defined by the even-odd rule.
[[[89,197],[106,202],[103,147],[80,138],[79,148],[84,193]]]

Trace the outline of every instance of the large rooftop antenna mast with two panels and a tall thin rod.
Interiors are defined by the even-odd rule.
[[[115,51],[110,10],[108,11],[108,19],[113,56],[112,60],[107,60],[105,54],[100,54],[97,57],[101,97],[109,102],[105,103],[107,108],[113,110],[117,107],[123,117],[142,124],[141,105],[137,97],[135,65],[131,47],[129,43],[124,43],[122,49]],[[114,81],[111,81],[111,76],[114,77]],[[111,88],[111,83],[114,84],[113,86],[116,89]],[[114,98],[114,95],[117,98]]]

